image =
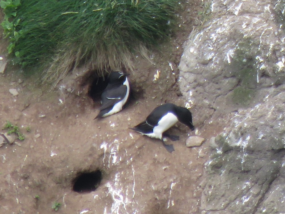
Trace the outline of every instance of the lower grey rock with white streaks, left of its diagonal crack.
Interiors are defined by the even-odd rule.
[[[280,165],[284,165],[284,95],[285,92],[272,95],[253,109],[236,114],[215,138],[211,145],[217,147],[205,164],[208,175],[201,209],[254,213],[262,204]],[[275,205],[282,205],[281,199],[276,197]]]

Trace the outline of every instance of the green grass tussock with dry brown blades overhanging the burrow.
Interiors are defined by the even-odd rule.
[[[47,81],[80,64],[132,69],[135,51],[168,37],[177,7],[177,0],[21,0],[6,30],[9,52],[24,68],[46,66]]]

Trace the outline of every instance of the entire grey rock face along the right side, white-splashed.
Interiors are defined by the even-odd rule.
[[[284,5],[213,0],[185,44],[180,90],[198,124],[225,127],[209,143],[204,213],[285,210]]]

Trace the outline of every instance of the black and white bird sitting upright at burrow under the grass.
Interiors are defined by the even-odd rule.
[[[107,117],[122,110],[130,93],[127,74],[115,71],[109,76],[109,83],[101,95],[102,105],[99,114],[94,118]]]

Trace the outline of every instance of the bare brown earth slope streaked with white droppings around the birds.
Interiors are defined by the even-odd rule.
[[[24,141],[0,148],[0,213],[52,213],[55,201],[62,204],[58,213],[200,212],[207,143],[223,125],[219,121],[215,127],[209,121],[195,124],[195,112],[203,109],[191,109],[196,131],[183,124],[172,128],[180,135],[172,154],[159,140],[129,129],[162,103],[185,106],[176,83],[177,66],[183,42],[200,24],[198,11],[203,7],[200,1],[183,4],[180,27],[171,43],[153,52],[155,64],[139,56],[135,59],[136,70],[130,75],[133,96],[123,111],[110,117],[93,120],[100,104],[88,97],[90,73],[78,78],[70,74],[59,83],[61,89],[52,92],[15,68],[0,74],[0,127],[9,120],[25,134]],[[2,41],[3,55],[7,42]],[[157,71],[160,76],[154,81]],[[17,89],[19,95],[14,97],[9,89]],[[205,143],[187,148],[186,139],[195,134]],[[76,176],[98,169],[102,180],[95,191],[73,191]]]

